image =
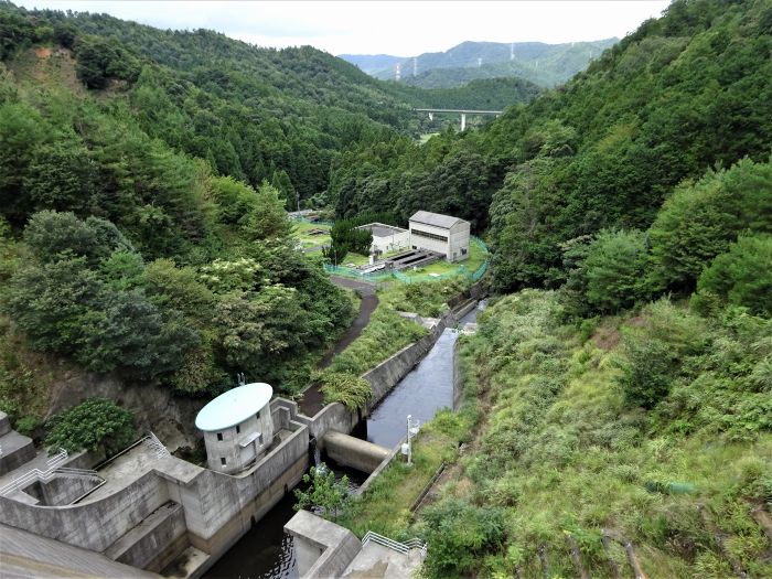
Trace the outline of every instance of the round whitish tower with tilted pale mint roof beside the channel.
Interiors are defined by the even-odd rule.
[[[195,426],[204,432],[210,469],[226,474],[239,472],[266,451],[274,440],[268,405],[272,395],[268,384],[245,384],[201,409]]]

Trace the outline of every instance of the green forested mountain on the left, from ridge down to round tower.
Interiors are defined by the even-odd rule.
[[[0,350],[187,395],[236,371],[289,392],[346,324],[347,298],[293,251],[282,213],[324,204],[346,150],[441,127],[415,106],[504,107],[537,92],[394,86],[308,46],[8,2],[0,33],[0,301],[29,352],[10,326]],[[40,291],[51,296],[35,309]],[[28,368],[0,366],[3,384]]]

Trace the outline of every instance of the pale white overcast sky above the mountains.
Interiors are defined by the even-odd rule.
[[[668,0],[133,1],[12,0],[26,8],[107,12],[162,29],[213,29],[260,46],[414,56],[460,42],[547,43],[622,37]]]

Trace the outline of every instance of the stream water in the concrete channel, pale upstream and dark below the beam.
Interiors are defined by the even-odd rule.
[[[464,315],[459,326],[476,321],[484,302]],[[366,439],[394,448],[406,435],[407,415],[421,423],[440,408],[453,405],[453,344],[455,329],[442,332],[423,360],[407,374],[367,418]],[[356,436],[355,432],[352,432]],[[364,433],[362,438],[365,438]],[[315,458],[315,457],[314,457]],[[323,459],[323,457],[322,457]],[[329,461],[326,461],[329,462]],[[366,474],[330,464],[340,479],[350,478],[352,489],[364,482]],[[285,524],[292,518],[296,503],[290,491],[259,523],[242,537],[207,572],[206,578],[223,579],[298,579],[292,540],[285,536]]]

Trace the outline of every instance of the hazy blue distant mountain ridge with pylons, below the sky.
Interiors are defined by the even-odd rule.
[[[421,88],[450,88],[476,78],[501,76],[518,76],[551,87],[587,68],[592,58],[598,58],[618,40],[562,44],[468,41],[446,52],[408,58],[388,54],[341,54],[340,57],[384,81],[395,78],[395,67],[399,64],[401,82]]]

